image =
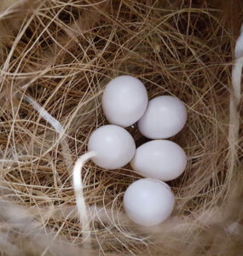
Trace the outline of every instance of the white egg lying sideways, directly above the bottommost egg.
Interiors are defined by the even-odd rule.
[[[130,165],[134,171],[144,177],[170,181],[184,172],[187,166],[187,155],[176,143],[154,140],[136,149]]]

